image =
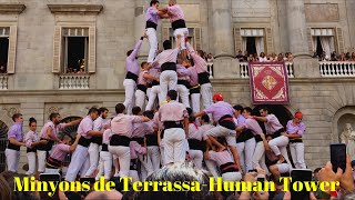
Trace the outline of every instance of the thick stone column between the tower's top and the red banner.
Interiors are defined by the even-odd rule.
[[[211,19],[213,26],[214,78],[234,79],[239,74],[239,61],[234,56],[234,34],[232,26],[232,1],[211,0]]]

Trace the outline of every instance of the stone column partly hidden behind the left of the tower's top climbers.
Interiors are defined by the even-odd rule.
[[[142,37],[145,30],[145,11],[149,7],[149,2],[144,0],[135,0],[134,8],[134,42]],[[135,44],[135,43],[134,43]],[[132,47],[133,48],[133,47]],[[149,43],[148,39],[144,39],[141,50],[139,52],[139,60],[143,61],[148,59]]]

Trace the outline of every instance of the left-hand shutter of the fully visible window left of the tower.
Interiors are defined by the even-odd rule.
[[[55,26],[53,37],[53,66],[52,72],[59,73],[62,67],[62,28]]]

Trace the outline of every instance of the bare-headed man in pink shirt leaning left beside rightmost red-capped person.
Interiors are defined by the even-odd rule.
[[[284,160],[286,160],[290,164],[291,162],[286,150],[288,138],[282,136],[282,133],[285,132],[284,127],[280,123],[275,114],[268,113],[268,109],[266,107],[260,109],[260,114],[261,117],[253,116],[250,118],[264,122],[266,133],[273,136],[273,139],[268,142],[270,148],[278,157],[280,163],[283,163]]]

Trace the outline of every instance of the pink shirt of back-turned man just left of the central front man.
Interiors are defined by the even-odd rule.
[[[113,134],[125,136],[132,138],[133,123],[143,122],[143,118],[139,116],[128,116],[120,113],[111,121],[111,130]]]

